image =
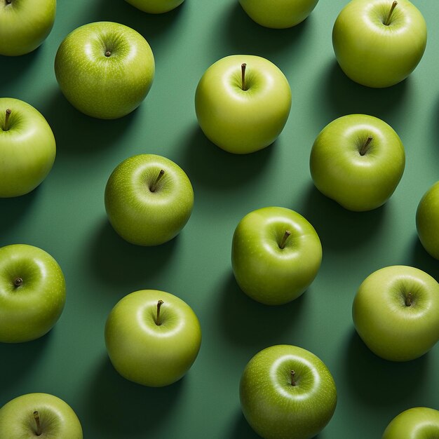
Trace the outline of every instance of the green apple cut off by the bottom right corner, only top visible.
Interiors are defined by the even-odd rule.
[[[394,417],[381,439],[439,438],[439,412],[428,407],[414,407]]]

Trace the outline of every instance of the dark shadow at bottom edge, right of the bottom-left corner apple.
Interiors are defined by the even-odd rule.
[[[189,371],[190,373],[190,371]],[[178,406],[187,377],[170,386],[152,388],[121,377],[109,358],[100,361],[88,385],[81,419],[92,425],[94,438],[139,437],[160,428]]]

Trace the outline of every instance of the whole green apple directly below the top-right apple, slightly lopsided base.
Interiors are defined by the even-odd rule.
[[[366,114],[349,114],[321,130],[309,165],[322,194],[349,210],[372,210],[386,203],[398,186],[405,151],[386,122]]]

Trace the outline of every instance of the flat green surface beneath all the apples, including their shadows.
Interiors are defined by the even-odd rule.
[[[55,166],[39,188],[0,200],[0,244],[43,248],[58,260],[67,280],[65,311],[48,335],[26,344],[0,344],[0,406],[23,393],[53,393],[72,405],[89,439],[255,438],[241,414],[239,379],[257,351],[285,343],[316,353],[334,375],[337,410],[318,439],[380,438],[389,421],[409,407],[439,409],[439,346],[410,363],[389,363],[364,346],[351,320],[358,285],[374,270],[408,264],[439,278],[439,263],[421,247],[414,222],[419,199],[439,177],[439,3],[414,0],[429,33],[412,76],[373,90],[347,79],[332,51],[332,25],[346,2],[320,0],[301,25],[275,30],[252,22],[236,0],[186,0],[156,16],[123,0],[59,1],[53,31],[39,49],[19,58],[0,57],[0,96],[39,109],[58,147]],[[133,27],[156,58],[147,99],[116,121],[77,112],[60,93],[53,72],[62,39],[99,20]],[[206,140],[194,111],[205,69],[239,53],[274,62],[292,89],[283,133],[271,147],[248,156],[228,154]],[[309,174],[309,153],[319,131],[356,112],[389,123],[407,155],[389,203],[364,213],[348,212],[322,196]],[[104,210],[110,173],[140,153],[172,159],[194,185],[187,227],[157,248],[124,242]],[[268,205],[297,210],[323,244],[316,281],[295,302],[279,307],[248,299],[231,273],[236,224]],[[184,299],[203,330],[194,366],[163,389],[119,377],[104,346],[109,311],[121,297],[143,288]]]

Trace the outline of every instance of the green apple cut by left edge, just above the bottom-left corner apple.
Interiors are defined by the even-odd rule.
[[[65,279],[53,257],[33,245],[0,248],[0,342],[43,336],[64,305]]]

